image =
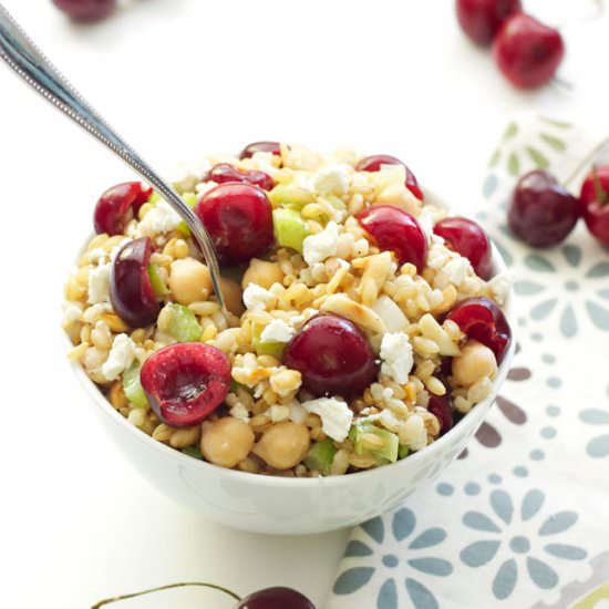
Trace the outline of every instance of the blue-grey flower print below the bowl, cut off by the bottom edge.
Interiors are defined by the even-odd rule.
[[[365,541],[350,541],[344,557],[363,565],[350,567],[339,575],[334,582],[334,595],[352,595],[374,579],[379,582],[375,609],[437,609],[437,599],[420,579],[425,580],[427,576],[447,577],[453,572],[451,562],[430,554],[430,548],[446,539],[446,531],[433,527],[415,534],[415,528],[416,516],[406,507],[393,515],[389,539],[385,539],[385,524],[380,516],[361,525]],[[395,554],[388,550],[395,550]],[[398,581],[404,581],[409,605],[405,605],[405,599],[401,600],[403,592]]]

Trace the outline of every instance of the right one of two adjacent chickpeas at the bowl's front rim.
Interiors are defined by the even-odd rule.
[[[304,458],[308,450],[309,430],[286,421],[269,427],[254,447],[254,453],[276,469],[289,469]]]

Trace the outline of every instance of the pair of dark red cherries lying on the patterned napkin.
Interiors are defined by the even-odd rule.
[[[592,167],[579,198],[548,172],[530,172],[516,184],[507,214],[514,235],[533,247],[560,244],[580,217],[592,236],[609,246],[609,165]]]

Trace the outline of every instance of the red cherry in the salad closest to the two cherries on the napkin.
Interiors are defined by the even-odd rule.
[[[443,218],[435,224],[434,233],[442,237],[451,249],[467,258],[478,277],[482,279],[491,277],[493,267],[491,240],[479,224],[460,216]]]

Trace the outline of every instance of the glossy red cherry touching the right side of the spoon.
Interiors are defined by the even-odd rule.
[[[224,264],[247,262],[272,244],[272,208],[264,190],[229,182],[205,193],[195,214]]]

